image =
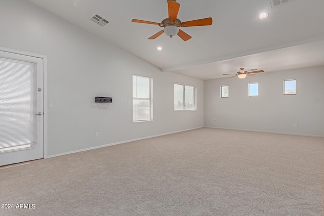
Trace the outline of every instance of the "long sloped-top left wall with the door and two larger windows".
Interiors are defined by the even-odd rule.
[[[0,2],[0,29],[0,47],[48,56],[49,156],[204,126],[203,80],[161,72],[27,1]],[[132,74],[153,78],[151,122],[132,122]],[[174,82],[196,85],[197,111],[174,111]]]

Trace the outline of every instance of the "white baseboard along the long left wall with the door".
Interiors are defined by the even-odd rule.
[[[99,148],[103,148],[103,147],[107,147],[107,146],[114,146],[114,145],[118,145],[118,144],[129,143],[129,142],[137,141],[137,140],[144,140],[144,139],[148,139],[148,138],[159,137],[159,136],[164,136],[164,135],[169,135],[169,134],[175,134],[175,133],[179,133],[179,132],[191,131],[192,129],[198,129],[198,128],[202,128],[202,127],[185,129],[183,131],[158,134],[158,135],[153,135],[153,136],[148,136],[148,137],[141,137],[141,138],[136,138],[133,140],[125,140],[125,141],[120,141],[120,142],[116,142],[116,143],[109,143],[109,144],[105,144],[105,145],[101,145],[101,146],[94,146],[94,147],[85,148],[85,149],[78,149],[75,151],[69,151],[69,152],[64,152],[64,153],[60,153],[60,154],[48,155],[47,157],[44,157],[44,158],[46,159],[46,158],[51,158],[51,157],[58,157],[58,156],[66,155],[66,154],[72,154],[72,153],[83,152],[83,151],[88,151],[88,150],[92,150],[92,149],[99,149]]]

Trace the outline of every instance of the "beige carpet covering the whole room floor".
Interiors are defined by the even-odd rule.
[[[200,128],[0,169],[0,215],[322,215],[324,138]]]

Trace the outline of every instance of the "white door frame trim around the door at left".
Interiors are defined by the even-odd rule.
[[[43,157],[48,158],[48,87],[47,87],[47,56],[10,48],[0,47],[0,51],[31,56],[43,59]]]

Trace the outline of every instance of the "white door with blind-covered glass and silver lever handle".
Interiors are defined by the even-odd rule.
[[[43,59],[0,51],[0,166],[43,158]]]

